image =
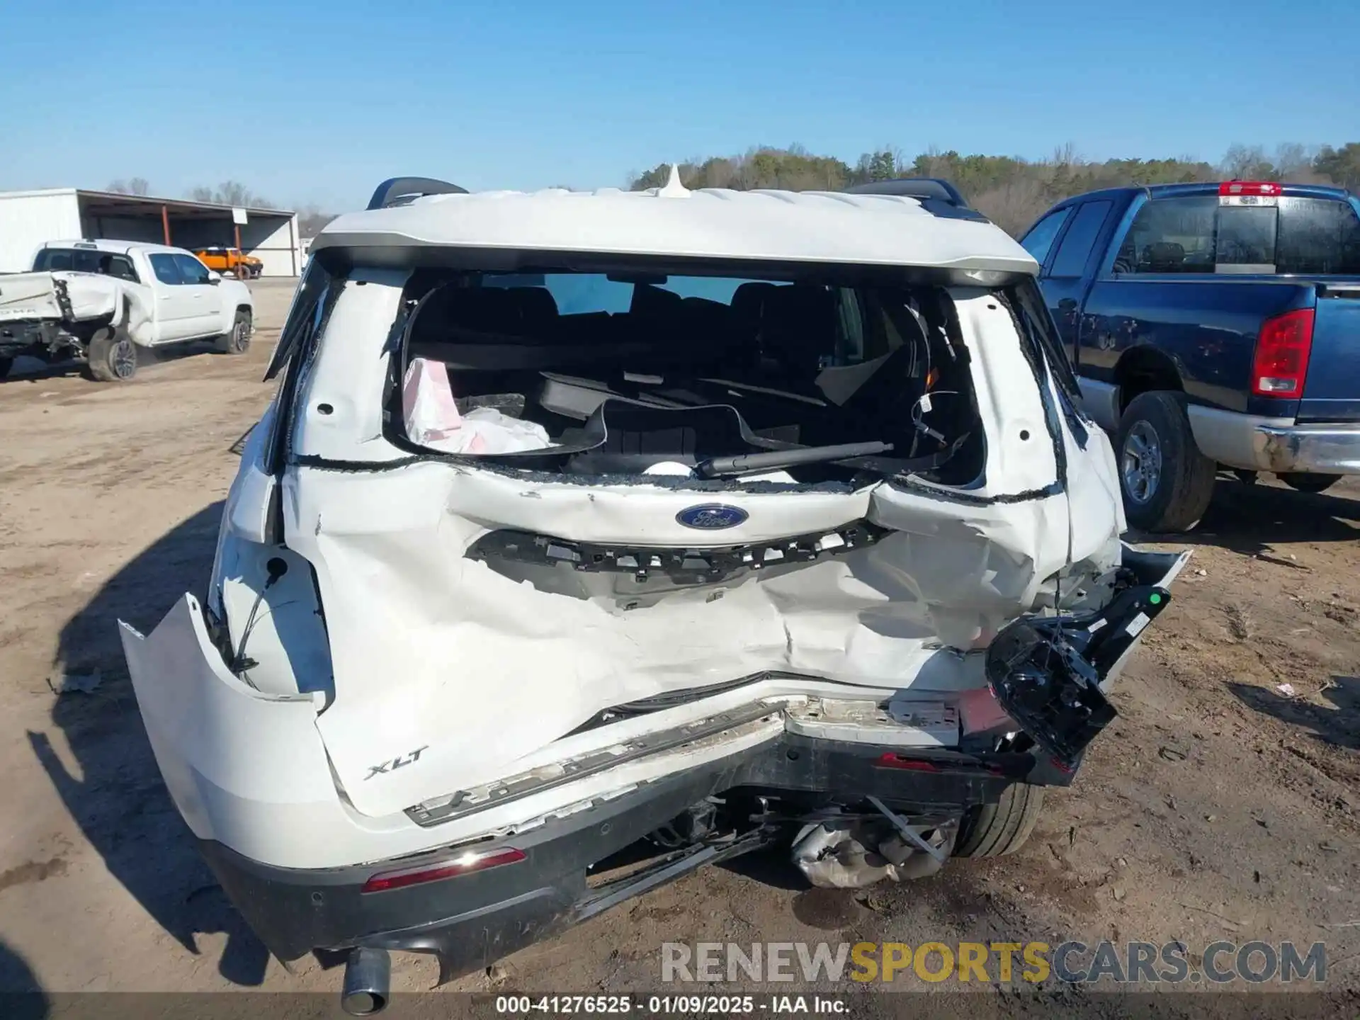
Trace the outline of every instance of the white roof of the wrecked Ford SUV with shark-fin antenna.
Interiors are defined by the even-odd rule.
[[[377,245],[1039,272],[1030,253],[1000,227],[937,216],[915,199],[691,192],[675,180],[645,192],[432,194],[340,216],[317,235],[311,250]]]

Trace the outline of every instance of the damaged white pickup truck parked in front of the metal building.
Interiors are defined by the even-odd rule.
[[[250,345],[250,290],[181,248],[129,241],[50,241],[33,272],[0,275],[0,379],[19,355],[76,356],[90,375],[131,379],[139,347],[216,339]]]

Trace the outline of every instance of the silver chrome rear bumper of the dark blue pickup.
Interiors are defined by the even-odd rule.
[[[1295,424],[1220,408],[1189,409],[1195,445],[1229,468],[1360,475],[1360,423]]]

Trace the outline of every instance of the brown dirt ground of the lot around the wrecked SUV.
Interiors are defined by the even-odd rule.
[[[271,960],[171,806],[114,620],[201,592],[231,445],[291,286],[253,284],[248,355],[188,354],[129,385],[0,382],[0,989],[339,989]],[[1119,719],[1023,851],[868,894],[806,889],[777,857],[699,873],[507,959],[464,990],[657,989],[662,941],[1216,938],[1327,944],[1360,987],[1360,484],[1220,484]],[[57,696],[63,675],[90,692]],[[1281,692],[1291,685],[1293,694]],[[1288,688],[1287,688],[1288,690]],[[394,987],[428,987],[401,957]],[[1021,1006],[1015,1006],[1020,1010]]]

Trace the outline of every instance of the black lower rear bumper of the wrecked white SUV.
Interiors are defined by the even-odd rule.
[[[252,861],[215,840],[200,849],[223,889],[269,951],[283,960],[313,949],[363,945],[434,953],[443,981],[487,967],[647,889],[726,857],[758,849],[774,832],[755,830],[733,843],[700,846],[656,868],[608,884],[589,881],[592,865],[665,826],[694,804],[725,792],[862,802],[876,796],[895,811],[951,819],[994,802],[1020,778],[1069,782],[1070,772],[1036,766],[1028,753],[972,758],[932,751],[884,766],[900,752],[794,734],[734,758],[704,764],[597,800],[537,828],[477,843],[514,847],[524,860],[407,888],[363,892],[375,873],[434,865],[447,849],[400,861],[336,869],[287,869]],[[755,801],[753,801],[755,802]],[[461,853],[462,849],[460,849]]]

